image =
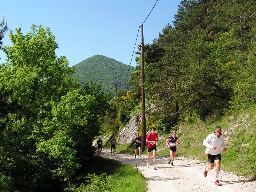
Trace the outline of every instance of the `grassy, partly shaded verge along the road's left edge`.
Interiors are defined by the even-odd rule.
[[[88,174],[80,180],[80,186],[67,188],[67,192],[146,192],[146,179],[137,168],[116,160],[92,157]]]

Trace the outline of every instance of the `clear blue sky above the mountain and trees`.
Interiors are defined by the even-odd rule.
[[[49,27],[59,47],[56,55],[65,56],[69,66],[99,54],[135,67],[141,24],[145,21],[144,44],[152,44],[167,24],[172,25],[180,1],[1,0],[0,19],[5,16],[9,30],[21,27],[24,35],[32,24]],[[8,34],[3,46],[12,46]],[[4,63],[2,50],[0,58]]]

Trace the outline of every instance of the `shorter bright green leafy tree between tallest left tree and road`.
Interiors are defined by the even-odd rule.
[[[96,130],[90,127],[90,121],[96,117],[90,109],[94,106],[93,96],[80,89],[69,92],[60,102],[52,103],[44,130],[39,130],[38,155],[45,154],[51,160],[53,177],[67,181],[68,186],[72,186],[75,171],[81,167],[79,162],[93,154],[91,143]]]

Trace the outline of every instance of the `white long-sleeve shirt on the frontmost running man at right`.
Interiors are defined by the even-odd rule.
[[[203,141],[203,145],[210,148],[209,154],[211,155],[220,154],[221,147],[226,148],[226,145],[224,144],[224,136],[221,135],[218,138],[215,133],[208,135]],[[214,150],[212,149],[213,146],[216,146],[217,148]]]

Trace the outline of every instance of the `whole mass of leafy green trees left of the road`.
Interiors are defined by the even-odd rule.
[[[31,29],[26,35],[21,28],[11,31],[13,46],[3,48],[1,185],[10,191],[61,191],[93,156],[92,140],[111,97],[93,83],[79,89],[71,78],[74,69],[55,54],[49,28]]]

